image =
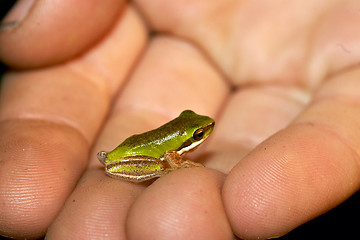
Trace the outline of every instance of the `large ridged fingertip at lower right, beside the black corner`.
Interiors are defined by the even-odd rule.
[[[224,183],[224,205],[236,235],[281,236],[344,201],[359,185],[348,150],[327,132],[304,125],[260,144]]]

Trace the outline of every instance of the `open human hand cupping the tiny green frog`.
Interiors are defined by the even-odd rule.
[[[52,2],[0,32],[2,61],[27,69],[1,82],[1,235],[266,239],[359,189],[358,1]],[[85,21],[59,31],[69,5]],[[189,155],[209,168],[105,175],[99,150],[184,109],[215,118]]]

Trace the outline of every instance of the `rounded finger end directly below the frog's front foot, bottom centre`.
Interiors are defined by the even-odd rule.
[[[232,239],[220,194],[223,177],[191,168],[156,181],[131,206],[128,238]]]

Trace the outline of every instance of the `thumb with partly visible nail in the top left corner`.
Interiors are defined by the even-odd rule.
[[[0,60],[14,68],[64,62],[110,30],[124,1],[19,1],[1,24]]]

